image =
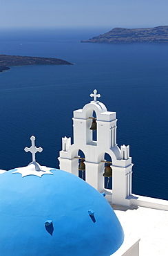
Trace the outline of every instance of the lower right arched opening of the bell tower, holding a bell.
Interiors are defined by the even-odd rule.
[[[109,154],[105,153],[105,169],[103,176],[104,179],[104,188],[108,190],[112,190],[112,158]]]

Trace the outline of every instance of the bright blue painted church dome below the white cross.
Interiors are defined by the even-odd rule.
[[[0,175],[1,256],[109,256],[123,228],[105,197],[73,174]]]

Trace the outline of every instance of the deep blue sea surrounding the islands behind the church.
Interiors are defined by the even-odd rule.
[[[41,165],[59,167],[61,138],[92,100],[118,118],[117,143],[130,145],[136,194],[168,199],[168,44],[86,44],[103,28],[0,30],[0,54],[56,57],[71,66],[19,66],[0,73],[0,169],[28,165],[36,136]],[[82,134],[81,134],[82,136]]]

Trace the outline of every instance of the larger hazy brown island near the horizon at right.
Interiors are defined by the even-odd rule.
[[[168,42],[168,26],[156,28],[114,28],[82,43],[134,43],[134,42]]]

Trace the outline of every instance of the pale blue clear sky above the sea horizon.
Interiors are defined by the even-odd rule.
[[[0,0],[0,28],[168,25],[168,0]]]

